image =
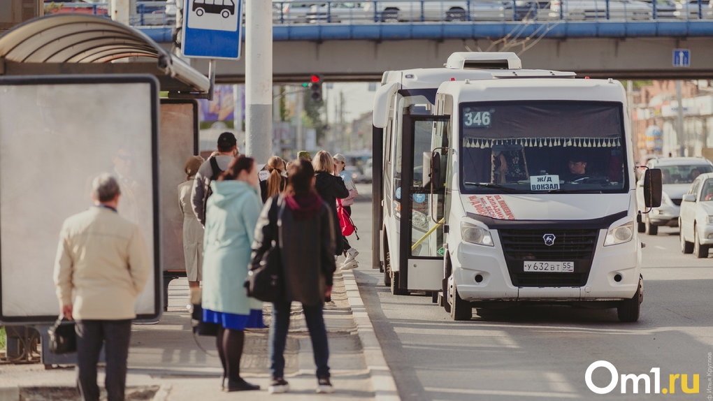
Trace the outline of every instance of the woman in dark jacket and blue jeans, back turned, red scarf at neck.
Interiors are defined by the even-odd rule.
[[[270,393],[287,392],[284,380],[284,345],[292,301],[302,303],[317,365],[317,392],[333,392],[329,381],[329,347],[322,307],[332,292],[334,223],[332,209],[314,190],[314,168],[305,160],[289,167],[287,188],[268,200],[255,228],[253,260],[261,259],[272,241],[278,241],[284,288],[282,301],[272,304],[270,325]],[[278,221],[280,222],[279,224]],[[279,230],[278,230],[279,226]]]

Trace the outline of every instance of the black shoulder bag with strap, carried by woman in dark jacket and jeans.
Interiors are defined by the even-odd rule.
[[[277,202],[273,204],[277,205]],[[277,219],[270,219],[273,226],[273,233],[279,238],[280,224],[275,221],[282,218],[284,204],[279,207]],[[264,302],[282,301],[284,290],[284,278],[282,277],[282,256],[279,251],[279,241],[273,240],[269,249],[263,252],[262,256],[255,257],[250,265],[245,279],[245,291],[247,296]]]

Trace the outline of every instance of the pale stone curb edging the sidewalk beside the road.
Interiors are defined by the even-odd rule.
[[[356,323],[356,333],[359,335],[362,348],[364,348],[364,360],[366,360],[366,368],[369,370],[369,377],[371,377],[375,399],[377,401],[401,400],[399,392],[396,390],[394,376],[391,375],[389,365],[386,364],[384,351],[381,350],[379,339],[374,333],[374,325],[371,324],[371,318],[366,313],[359,287],[356,286],[354,271],[343,270],[342,278],[344,279],[344,289],[347,290],[347,301],[352,308],[352,316]]]

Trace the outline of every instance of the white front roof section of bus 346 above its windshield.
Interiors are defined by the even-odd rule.
[[[454,103],[563,99],[625,103],[626,100],[624,87],[612,79],[461,80],[443,83],[438,93],[453,95]]]

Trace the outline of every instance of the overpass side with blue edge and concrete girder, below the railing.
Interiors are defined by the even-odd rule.
[[[170,46],[170,30],[145,28]],[[514,51],[527,68],[617,79],[713,78],[713,21],[503,21],[309,24],[273,28],[275,82],[374,81],[387,70],[438,67],[455,51]],[[689,49],[689,67],[673,50]],[[207,61],[193,66],[207,73]],[[218,61],[217,81],[242,83],[244,61]]]

